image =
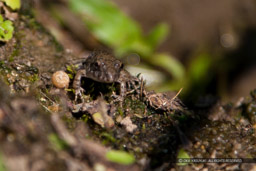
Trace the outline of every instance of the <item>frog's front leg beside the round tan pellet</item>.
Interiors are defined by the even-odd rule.
[[[73,81],[73,88],[75,89],[75,101],[77,100],[77,96],[82,97],[82,93],[84,92],[84,89],[81,87],[81,79],[82,79],[82,77],[85,77],[85,76],[86,76],[86,71],[84,69],[79,70],[76,73],[76,76]],[[83,101],[83,99],[82,99],[82,101]]]

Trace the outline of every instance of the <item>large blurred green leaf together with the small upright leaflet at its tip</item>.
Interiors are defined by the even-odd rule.
[[[143,58],[151,56],[167,34],[167,25],[160,24],[147,37],[143,36],[138,23],[107,0],[70,0],[69,4],[95,37],[118,55],[136,52]]]

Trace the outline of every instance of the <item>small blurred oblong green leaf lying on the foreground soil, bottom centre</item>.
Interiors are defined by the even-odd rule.
[[[135,161],[135,158],[132,154],[129,154],[124,151],[118,151],[118,150],[110,150],[106,154],[106,158],[109,161],[123,164],[123,165],[129,165],[133,164]]]

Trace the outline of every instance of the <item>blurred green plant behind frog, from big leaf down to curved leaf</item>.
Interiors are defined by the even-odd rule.
[[[156,53],[156,48],[168,34],[167,24],[160,23],[145,35],[137,22],[109,1],[70,0],[69,5],[95,37],[112,47],[117,56],[129,52],[139,54],[146,63],[163,68],[173,75],[175,80],[168,83],[168,89],[180,88],[185,76],[183,65],[169,54]]]

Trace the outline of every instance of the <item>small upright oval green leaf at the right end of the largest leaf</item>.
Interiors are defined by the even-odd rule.
[[[166,23],[158,24],[153,30],[149,33],[146,40],[151,48],[155,49],[167,36],[169,27]]]

